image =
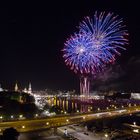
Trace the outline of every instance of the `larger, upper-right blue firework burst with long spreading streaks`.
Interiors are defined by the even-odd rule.
[[[120,55],[119,50],[128,44],[128,32],[123,25],[123,20],[113,13],[105,14],[95,12],[94,17],[86,17],[80,23],[80,32],[91,36],[93,47],[100,48],[102,60],[106,63],[115,61],[115,55]]]

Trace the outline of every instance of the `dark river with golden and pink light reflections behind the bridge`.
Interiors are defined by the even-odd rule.
[[[69,96],[69,97],[60,97],[52,96],[46,97],[45,102],[50,106],[54,106],[59,109],[61,112],[67,113],[79,113],[79,112],[90,112],[90,111],[101,111],[101,110],[110,110],[125,108],[131,106],[140,105],[140,101],[133,99],[94,99],[94,98],[85,98],[80,96]]]

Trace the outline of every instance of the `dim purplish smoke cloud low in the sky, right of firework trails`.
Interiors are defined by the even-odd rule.
[[[109,66],[92,82],[92,90],[140,91],[140,56],[126,64]]]

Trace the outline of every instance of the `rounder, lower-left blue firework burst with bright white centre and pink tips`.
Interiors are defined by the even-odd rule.
[[[65,43],[63,49],[66,65],[74,72],[94,73],[100,71],[103,66],[101,54],[93,47],[91,36],[87,34],[74,34]]]

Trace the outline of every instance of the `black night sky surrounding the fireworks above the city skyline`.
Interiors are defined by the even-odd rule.
[[[122,3],[122,1],[124,3]],[[79,79],[65,65],[65,40],[94,12],[112,11],[123,18],[130,44],[114,66],[93,81],[94,89],[140,89],[140,8],[138,1],[75,0],[9,3],[0,8],[0,83],[3,88],[78,89]],[[115,73],[115,74],[114,74]],[[116,76],[117,75],[117,76]],[[95,84],[94,84],[95,83]],[[110,84],[111,83],[111,84]]]

